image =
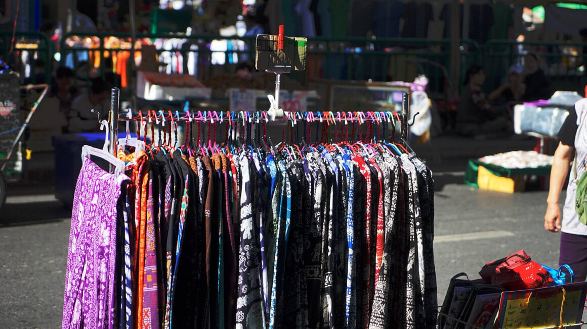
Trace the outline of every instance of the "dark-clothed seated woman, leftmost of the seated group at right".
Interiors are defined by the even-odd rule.
[[[512,130],[507,112],[492,108],[485,98],[481,90],[484,81],[481,66],[474,65],[467,70],[457,112],[456,130],[460,135],[492,135]]]

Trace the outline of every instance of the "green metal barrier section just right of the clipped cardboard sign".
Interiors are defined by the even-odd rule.
[[[461,63],[473,63],[478,49],[477,43],[462,40]],[[430,90],[443,92],[449,71],[450,40],[308,40],[305,74],[309,78],[321,74],[323,78],[336,80],[413,81],[418,75],[426,74]]]

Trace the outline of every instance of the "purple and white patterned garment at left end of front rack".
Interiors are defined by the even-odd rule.
[[[113,328],[116,203],[129,177],[85,159],[77,177],[63,297],[63,328]]]

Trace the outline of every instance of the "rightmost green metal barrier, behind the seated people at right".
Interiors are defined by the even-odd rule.
[[[585,73],[576,68],[586,44],[563,42],[508,42],[490,40],[483,46],[485,90],[490,92],[506,82],[508,69],[522,64],[524,54],[536,53],[541,68],[550,78],[555,90],[577,91],[583,94]],[[587,63],[586,63],[587,64]]]

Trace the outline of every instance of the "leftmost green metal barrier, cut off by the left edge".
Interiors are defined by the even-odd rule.
[[[0,56],[2,60],[14,66],[20,74],[21,84],[50,83],[51,63],[53,61],[54,46],[43,33],[16,32],[14,35],[14,49],[12,49],[12,32],[0,31]],[[44,74],[37,76],[35,68],[38,64]],[[44,81],[41,80],[41,77]]]

